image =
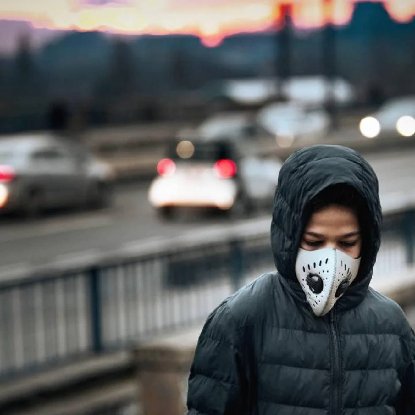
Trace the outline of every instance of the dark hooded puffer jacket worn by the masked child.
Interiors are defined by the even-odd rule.
[[[295,280],[310,199],[347,183],[367,201],[370,249],[332,312],[315,317]],[[415,336],[402,310],[369,288],[380,239],[374,171],[340,146],[293,154],[278,180],[271,242],[278,273],[227,298],[207,319],[190,371],[190,415],[414,415]]]

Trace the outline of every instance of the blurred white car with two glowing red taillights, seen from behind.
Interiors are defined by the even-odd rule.
[[[280,168],[278,160],[242,156],[229,140],[174,142],[157,166],[149,202],[163,217],[177,207],[241,215],[272,200]]]

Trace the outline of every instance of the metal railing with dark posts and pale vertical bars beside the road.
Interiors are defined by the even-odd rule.
[[[414,264],[415,210],[384,212],[374,278]],[[122,254],[0,281],[0,378],[128,348],[203,322],[273,270],[270,218],[148,242]]]

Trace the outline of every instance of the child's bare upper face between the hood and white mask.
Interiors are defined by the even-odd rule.
[[[333,248],[356,259],[361,251],[359,220],[352,209],[328,205],[316,210],[308,220],[300,247],[307,251]]]

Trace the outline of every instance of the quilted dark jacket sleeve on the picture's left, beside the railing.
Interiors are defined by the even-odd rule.
[[[207,318],[189,376],[188,415],[247,413],[247,377],[236,322],[226,303]]]

